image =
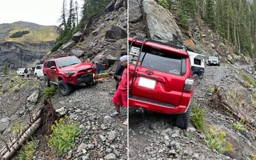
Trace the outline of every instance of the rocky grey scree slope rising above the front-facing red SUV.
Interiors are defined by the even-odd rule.
[[[127,1],[113,0],[105,10],[91,17],[67,44],[44,56],[42,61],[52,57],[75,55],[95,62],[101,54],[108,62],[105,70],[109,72],[115,69],[121,52],[127,52]]]

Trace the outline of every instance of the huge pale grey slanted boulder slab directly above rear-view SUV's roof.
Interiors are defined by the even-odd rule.
[[[154,0],[142,1],[143,19],[148,37],[174,45],[182,45],[182,34],[170,11]]]

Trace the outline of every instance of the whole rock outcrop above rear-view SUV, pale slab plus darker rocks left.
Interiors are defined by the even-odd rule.
[[[132,6],[129,7],[130,36],[138,36],[138,34],[144,33],[147,38],[154,40],[174,45],[183,44],[179,26],[177,26],[170,11],[154,0],[132,0],[129,1],[129,4]],[[143,19],[141,19],[141,15]]]

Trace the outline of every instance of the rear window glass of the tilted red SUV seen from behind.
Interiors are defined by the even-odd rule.
[[[136,65],[139,52],[140,47],[131,47],[129,63]],[[179,54],[143,47],[138,65],[168,74],[182,75],[184,74],[184,69],[186,70],[184,61],[186,61],[186,58]]]

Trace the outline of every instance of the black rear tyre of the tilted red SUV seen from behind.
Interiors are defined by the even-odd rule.
[[[189,108],[186,113],[177,115],[175,125],[180,129],[187,129],[189,126],[190,115],[191,115],[192,106],[189,105]]]

